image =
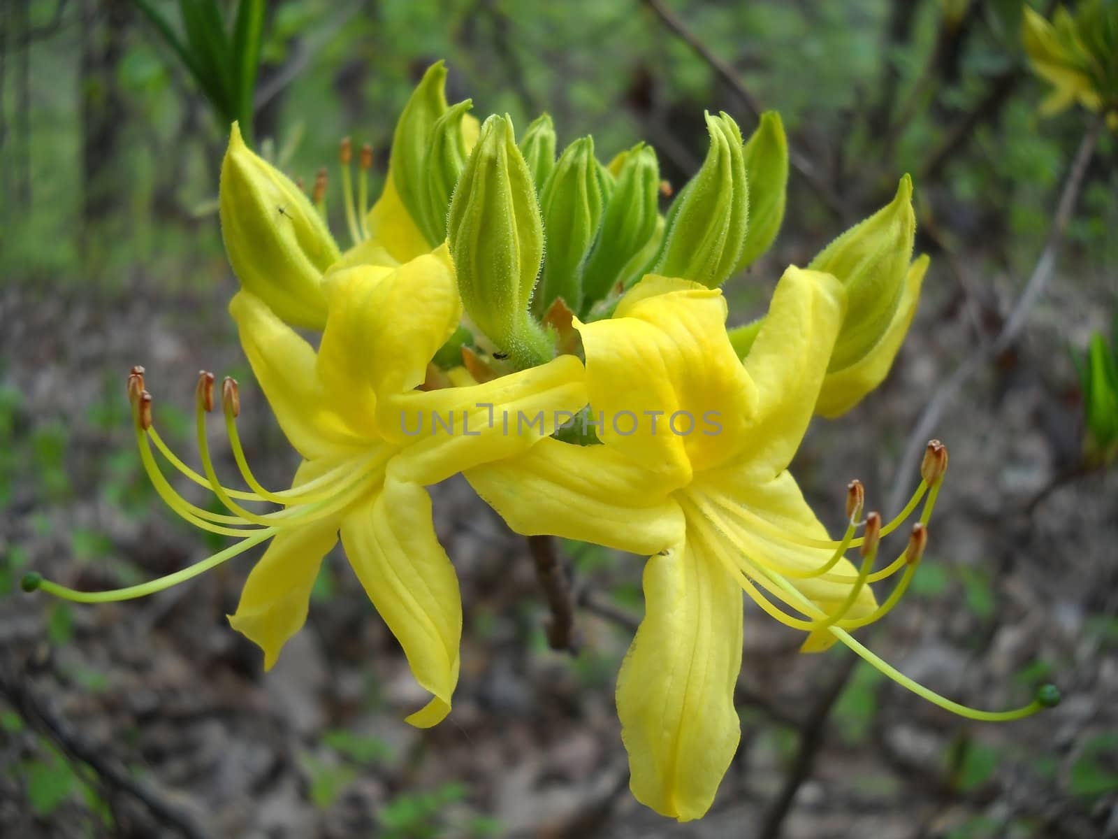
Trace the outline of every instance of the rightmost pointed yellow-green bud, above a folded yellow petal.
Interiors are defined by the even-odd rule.
[[[887,207],[851,227],[807,266],[833,274],[846,289],[846,318],[828,371],[862,360],[889,330],[904,291],[915,237],[912,179],[906,175]]]

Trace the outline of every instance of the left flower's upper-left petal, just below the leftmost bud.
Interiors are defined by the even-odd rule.
[[[239,292],[229,302],[240,346],[292,446],[307,460],[362,445],[326,402],[314,350],[264,302]]]

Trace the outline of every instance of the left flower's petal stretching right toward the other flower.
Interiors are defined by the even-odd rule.
[[[482,385],[387,399],[378,422],[387,439],[404,446],[392,473],[432,484],[524,451],[584,405],[582,364],[560,356]]]

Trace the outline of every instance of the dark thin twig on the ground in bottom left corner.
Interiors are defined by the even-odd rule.
[[[3,694],[20,715],[37,722],[58,746],[74,758],[88,764],[108,786],[120,789],[148,808],[165,827],[177,830],[188,839],[206,839],[208,833],[186,808],[168,801],[149,783],[133,777],[117,764],[111,753],[70,730],[69,726],[45,704],[38,701],[30,687],[18,676],[0,670],[0,694]]]

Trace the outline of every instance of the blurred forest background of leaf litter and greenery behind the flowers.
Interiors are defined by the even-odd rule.
[[[178,26],[176,3],[152,6]],[[880,392],[815,423],[793,469],[831,526],[851,478],[871,507],[907,494],[917,417],[979,359],[934,430],[951,468],[928,556],[865,638],[972,705],[1015,706],[1049,680],[1064,701],[969,723],[843,649],[797,656],[795,633],[750,607],[741,748],[708,818],[680,826],[629,796],[613,705],[642,558],[562,546],[581,647],[552,651],[527,545],[464,482],[434,491],[465,629],[454,713],[432,730],[402,723],[416,688],[340,555],[267,676],[225,620],[248,558],[126,604],[19,592],[31,568],[112,587],[220,546],[143,475],[134,364],[184,454],[199,368],[241,380],[262,477],[284,484],[295,454],[225,310],[228,126],[136,3],[2,0],[0,836],[1118,837],[1118,479],[1084,462],[1073,364],[1118,308],[1116,143],[1099,138],[1024,329],[982,355],[1091,119],[1040,120],[1020,21],[1012,0],[267,4],[256,136],[307,182],[351,135],[372,143],[379,189],[396,117],[437,58],[452,101],[521,129],[546,110],[561,144],[593,132],[603,159],[645,139],[676,187],[705,153],[704,109],[746,133],[755,109],[779,111],[788,210],[773,251],[727,285],[732,322],[912,173],[932,263],[910,338]],[[332,190],[340,232],[337,178]]]

